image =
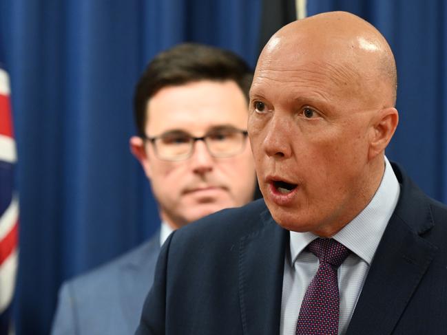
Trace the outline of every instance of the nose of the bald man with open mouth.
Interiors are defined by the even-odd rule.
[[[287,116],[274,115],[266,125],[262,147],[273,158],[289,158],[292,153],[293,122]]]

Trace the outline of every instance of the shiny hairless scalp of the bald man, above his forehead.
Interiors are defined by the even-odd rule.
[[[285,67],[311,60],[327,67],[335,83],[349,83],[354,93],[377,107],[393,107],[397,73],[393,52],[370,23],[348,12],[327,12],[294,21],[265,45],[258,67]]]

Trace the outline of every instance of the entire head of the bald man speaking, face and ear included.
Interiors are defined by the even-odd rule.
[[[368,204],[397,127],[395,62],[345,12],[284,26],[262,50],[248,132],[260,189],[282,227],[333,236]]]

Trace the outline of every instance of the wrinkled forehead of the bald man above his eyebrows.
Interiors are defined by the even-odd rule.
[[[302,44],[306,46],[307,44]],[[356,107],[381,105],[376,101],[377,75],[371,69],[362,69],[349,52],[321,50],[315,45],[280,47],[265,52],[258,62],[251,86],[251,97],[291,100],[298,97],[313,101],[350,102]],[[284,101],[285,101],[284,100]]]

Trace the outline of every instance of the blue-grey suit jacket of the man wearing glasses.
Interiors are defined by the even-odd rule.
[[[53,335],[133,334],[154,279],[160,231],[149,241],[63,284]]]

